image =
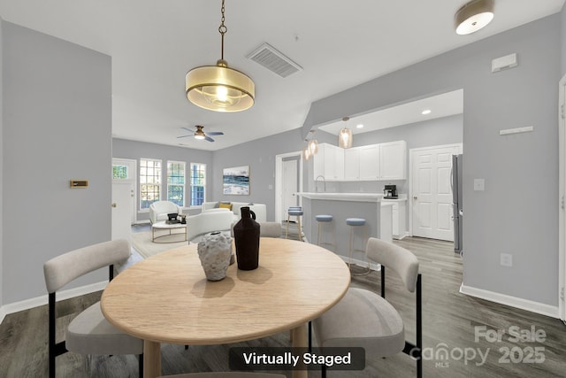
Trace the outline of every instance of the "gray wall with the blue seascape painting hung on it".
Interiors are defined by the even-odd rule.
[[[306,143],[299,128],[257,139],[214,153],[212,184],[215,200],[252,202],[267,205],[267,220],[275,218],[275,156],[301,150]],[[231,166],[249,166],[249,196],[222,193],[222,170]]]

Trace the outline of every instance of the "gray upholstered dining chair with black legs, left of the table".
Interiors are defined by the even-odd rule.
[[[57,356],[73,351],[80,354],[138,354],[139,374],[143,375],[143,341],[126,335],[103,316],[100,302],[80,312],[66,329],[65,341],[57,343],[56,292],[81,275],[109,266],[110,280],[114,264],[130,256],[126,240],[97,243],[51,258],[43,264],[45,285],[49,293],[49,365],[50,378],[55,378]]]

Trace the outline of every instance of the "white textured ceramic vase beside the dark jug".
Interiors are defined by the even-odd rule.
[[[220,281],[226,277],[232,256],[232,237],[219,231],[204,235],[198,243],[198,257],[209,281]]]

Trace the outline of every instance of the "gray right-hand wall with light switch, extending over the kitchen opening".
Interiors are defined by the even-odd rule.
[[[448,51],[313,103],[311,127],[454,89],[464,90],[463,283],[558,304],[558,120],[563,14]],[[519,66],[491,73],[516,52]],[[499,130],[534,132],[500,136]],[[485,179],[486,190],[473,190]],[[533,188],[538,196],[533,198]],[[502,252],[513,267],[500,265]]]

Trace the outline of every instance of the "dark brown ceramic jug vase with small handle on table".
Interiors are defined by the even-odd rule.
[[[241,207],[241,220],[233,227],[238,269],[253,270],[259,265],[259,223],[256,213]]]

